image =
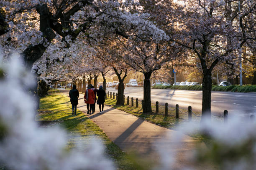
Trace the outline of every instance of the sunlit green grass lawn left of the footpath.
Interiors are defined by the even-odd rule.
[[[69,97],[61,93],[51,93],[40,100],[40,110],[36,121],[41,127],[60,125],[67,130],[69,141],[67,150],[75,143],[87,145],[91,137],[99,138],[105,145],[105,154],[117,165],[118,170],[146,170],[147,164],[140,163],[133,155],[124,153],[107,135],[90,120],[84,113],[77,110],[77,116],[71,114],[72,108]]]

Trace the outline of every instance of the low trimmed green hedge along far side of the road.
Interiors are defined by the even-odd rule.
[[[157,85],[153,87],[154,89],[175,89],[175,90],[202,90],[201,85],[191,85],[191,86],[180,86],[180,85]],[[218,86],[213,85],[212,91],[231,91],[231,92],[256,92],[256,85],[230,85],[230,86]]]

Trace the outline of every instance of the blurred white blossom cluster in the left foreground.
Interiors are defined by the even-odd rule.
[[[92,139],[87,148],[67,152],[64,130],[38,128],[33,97],[28,95],[31,80],[33,75],[17,56],[12,56],[8,64],[0,58],[0,165],[11,170],[115,169],[103,157],[100,141]]]

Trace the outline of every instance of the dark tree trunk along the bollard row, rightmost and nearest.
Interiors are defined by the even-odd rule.
[[[211,72],[207,71],[204,74],[202,82],[202,119],[201,122],[205,119],[211,117],[211,94],[212,94],[212,76]]]

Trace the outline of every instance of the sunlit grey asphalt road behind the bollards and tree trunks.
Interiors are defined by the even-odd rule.
[[[107,91],[117,92],[114,87],[108,87]],[[143,87],[125,87],[124,95],[143,100]],[[172,107],[179,104],[180,108],[191,105],[192,110],[201,112],[202,91],[151,89],[151,102],[156,101]],[[256,92],[212,92],[211,110],[214,115],[223,115],[224,110],[239,116],[256,114]]]

